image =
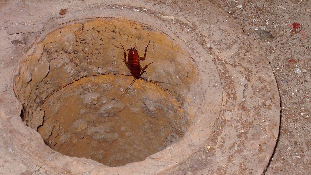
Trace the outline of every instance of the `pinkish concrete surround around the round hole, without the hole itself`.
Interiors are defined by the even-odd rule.
[[[258,42],[244,33],[241,25],[216,3],[11,1],[1,2],[1,10],[0,172],[3,174],[262,174],[266,171],[280,123],[280,98],[275,77]],[[189,55],[188,61],[194,65],[198,78],[194,84],[189,80],[189,89],[183,88],[187,86],[184,83],[175,88],[176,94],[185,96],[178,103],[191,121],[184,136],[143,161],[119,167],[65,156],[50,149],[35,130],[42,124],[38,125],[40,116],[42,118],[41,109],[32,106],[33,111],[28,117],[37,116],[38,120],[33,122],[33,129],[27,127],[27,122],[23,122],[20,116],[25,101],[16,98],[20,93],[16,90],[22,90],[27,95],[42,90],[31,91],[31,88],[26,88],[27,83],[49,82],[44,80],[49,76],[49,71],[44,70],[50,69],[46,59],[39,59],[36,63],[43,68],[40,73],[38,69],[27,69],[34,65],[25,64],[25,60],[36,53],[36,48],[50,32],[86,20],[111,18],[135,21],[145,31],[150,30],[149,26],[151,30],[166,35]],[[142,40],[137,48],[143,48],[144,41],[149,38]],[[131,44],[135,43],[128,43],[127,46]],[[122,58],[122,50],[116,51],[116,57]],[[115,60],[116,64],[122,65],[122,62],[117,63],[117,58]],[[156,62],[156,58],[152,61]],[[102,65],[97,64],[98,71]],[[129,75],[124,64],[115,68],[123,71],[121,74]],[[93,70],[86,70],[86,75],[94,75]],[[152,68],[151,65],[148,70],[160,72],[159,67]],[[103,71],[114,73],[109,69]],[[34,79],[32,82],[33,73],[37,73],[36,78],[41,80],[35,82]],[[155,79],[155,75],[150,77]],[[22,77],[17,78],[22,80],[18,86],[14,86],[16,77]],[[79,78],[73,77],[72,81]],[[16,88],[16,96],[13,87]],[[184,89],[186,92],[182,92]],[[39,106],[49,95],[42,97],[34,100],[33,105]]]

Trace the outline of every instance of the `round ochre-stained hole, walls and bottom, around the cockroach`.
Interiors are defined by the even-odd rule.
[[[143,76],[176,86],[132,82],[122,43],[141,56]],[[190,56],[150,26],[95,20],[51,32],[20,64],[15,93],[23,120],[52,149],[108,166],[141,161],[178,141],[193,121],[183,104],[197,81]]]

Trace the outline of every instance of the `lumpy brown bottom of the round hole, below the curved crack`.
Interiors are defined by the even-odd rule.
[[[109,166],[144,160],[179,140],[187,129],[174,97],[137,81],[109,112],[132,76],[86,77],[50,96],[38,128],[46,145]],[[177,109],[175,108],[177,107]]]

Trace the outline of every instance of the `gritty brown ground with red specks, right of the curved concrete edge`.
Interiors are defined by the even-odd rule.
[[[276,76],[281,96],[281,127],[266,174],[310,174],[311,2],[224,0],[218,3],[261,44]],[[300,24],[300,32],[290,36],[294,22]],[[273,38],[263,39],[258,35],[261,29],[270,32]]]

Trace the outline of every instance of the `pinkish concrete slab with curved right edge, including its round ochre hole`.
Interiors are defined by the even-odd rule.
[[[219,4],[1,3],[4,174],[270,167],[280,124],[275,77],[259,43]],[[142,56],[149,40],[141,64],[154,63],[144,77],[173,86],[136,81],[107,112],[132,78],[119,44]]]

